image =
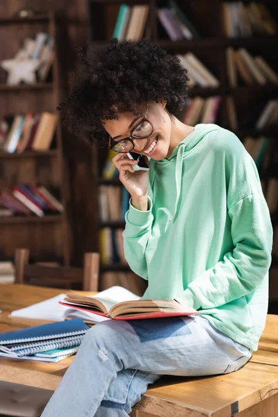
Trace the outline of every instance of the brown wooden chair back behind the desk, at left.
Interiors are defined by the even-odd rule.
[[[84,255],[84,267],[72,268],[56,265],[29,264],[29,250],[15,250],[15,283],[35,284],[71,288],[72,284],[81,284],[84,291],[98,291],[99,254]]]

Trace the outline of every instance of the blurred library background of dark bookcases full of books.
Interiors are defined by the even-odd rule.
[[[278,313],[277,22],[277,0],[1,0],[0,283],[15,279],[23,247],[51,266],[99,252],[99,290],[144,292],[124,259],[129,195],[112,155],[65,131],[56,106],[88,40],[147,37],[188,69],[190,100],[177,117],[234,131],[256,162],[275,231],[269,312]]]

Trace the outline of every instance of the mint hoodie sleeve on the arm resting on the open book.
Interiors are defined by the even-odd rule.
[[[224,254],[213,268],[188,284],[181,297],[176,298],[181,304],[195,309],[211,309],[227,304],[254,291],[270,268],[273,238],[270,212],[254,163],[246,155],[247,152],[240,150],[237,165],[232,170],[229,161],[227,215],[231,219],[234,248]],[[254,173],[247,176],[247,165],[250,164]],[[238,190],[242,191],[243,187],[248,187],[250,193],[235,199]]]

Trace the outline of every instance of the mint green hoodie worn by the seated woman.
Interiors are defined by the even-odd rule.
[[[142,299],[175,299],[252,350],[265,327],[272,224],[256,165],[240,140],[197,124],[168,159],[150,160],[149,205],[123,232]]]

